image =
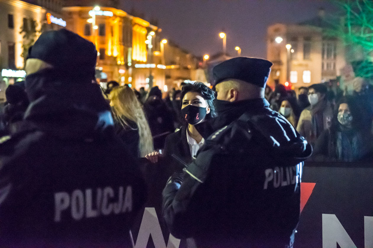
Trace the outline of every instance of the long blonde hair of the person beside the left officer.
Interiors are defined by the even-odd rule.
[[[126,119],[132,120],[137,124],[140,136],[140,157],[145,157],[145,155],[153,151],[153,138],[151,136],[149,124],[145,119],[144,111],[134,91],[128,86],[115,87],[110,92],[110,100],[113,115],[119,120],[123,128],[131,128]]]

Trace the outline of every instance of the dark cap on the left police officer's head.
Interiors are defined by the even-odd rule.
[[[94,78],[95,45],[66,29],[47,31],[29,48],[27,59],[41,59],[66,77]]]

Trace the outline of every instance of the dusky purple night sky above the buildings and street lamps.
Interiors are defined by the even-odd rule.
[[[266,58],[269,25],[312,19],[320,7],[326,14],[337,10],[328,0],[122,0],[123,10],[157,19],[161,38],[197,56],[222,52],[224,31],[228,54],[239,46],[242,56]]]

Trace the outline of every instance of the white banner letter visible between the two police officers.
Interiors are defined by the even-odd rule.
[[[153,239],[155,248],[166,247],[166,242],[164,242],[162,229],[159,225],[156,209],[154,209],[154,207],[145,207],[135,248],[146,247],[148,244],[149,235],[151,235],[151,238]],[[175,238],[170,233],[166,248],[179,248],[179,245],[180,239]]]

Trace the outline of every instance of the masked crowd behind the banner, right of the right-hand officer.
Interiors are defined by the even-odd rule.
[[[271,108],[313,145],[309,161],[373,161],[373,87],[358,78],[352,93],[329,83],[294,90],[278,84],[266,89]]]

